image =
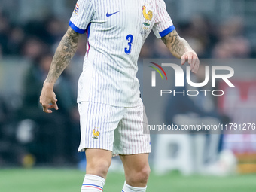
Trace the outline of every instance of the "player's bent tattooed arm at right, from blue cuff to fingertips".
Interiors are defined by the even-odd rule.
[[[190,65],[190,70],[194,73],[197,72],[200,64],[197,53],[194,52],[184,38],[178,35],[176,30],[173,30],[161,39],[172,55],[181,59],[181,65],[184,65],[187,61]]]

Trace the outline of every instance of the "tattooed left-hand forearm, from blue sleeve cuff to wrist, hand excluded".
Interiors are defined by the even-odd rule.
[[[69,27],[56,49],[45,82],[55,83],[59,75],[61,75],[66,66],[69,65],[70,60],[75,55],[75,51],[78,48],[78,39],[80,36],[81,34],[73,31]]]

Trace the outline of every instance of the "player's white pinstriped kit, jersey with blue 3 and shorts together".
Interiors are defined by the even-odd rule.
[[[78,0],[69,26],[87,33],[87,53],[78,81],[78,151],[102,148],[113,154],[149,153],[137,61],[152,29],[157,38],[175,29],[165,2]]]

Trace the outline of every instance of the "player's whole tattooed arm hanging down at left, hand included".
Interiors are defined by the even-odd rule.
[[[40,103],[43,106],[43,111],[46,113],[52,113],[50,108],[58,110],[53,86],[59,78],[59,75],[62,74],[63,70],[66,69],[72,57],[75,55],[80,36],[80,33],[75,32],[71,27],[69,27],[56,49],[40,96]]]

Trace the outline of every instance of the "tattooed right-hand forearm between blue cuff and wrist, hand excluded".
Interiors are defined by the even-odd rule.
[[[181,57],[187,51],[187,47],[190,47],[189,44],[187,44],[187,41],[178,36],[176,30],[173,30],[161,39],[169,50],[179,57]]]

